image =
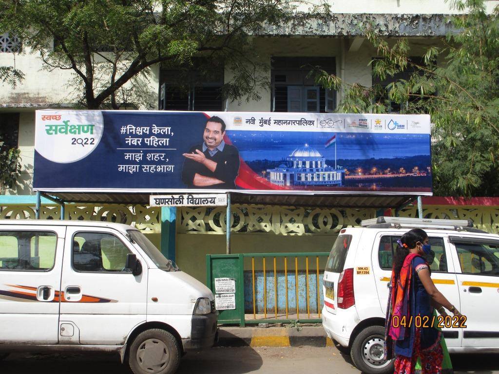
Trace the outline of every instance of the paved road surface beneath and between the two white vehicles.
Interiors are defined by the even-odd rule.
[[[456,373],[499,374],[497,355],[452,358]],[[117,357],[105,354],[9,356],[2,374],[129,374]],[[182,359],[178,374],[358,374],[348,357],[334,347],[213,348]]]

